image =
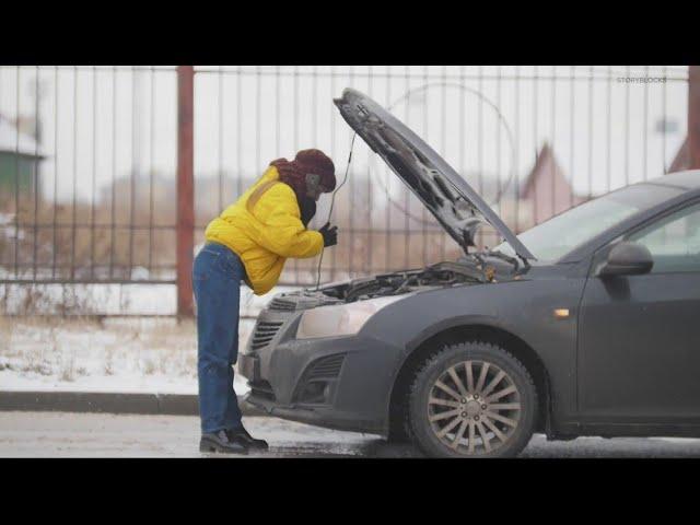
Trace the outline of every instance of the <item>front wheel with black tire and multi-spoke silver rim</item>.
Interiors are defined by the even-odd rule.
[[[537,407],[533,378],[513,354],[489,342],[464,342],[419,368],[408,428],[432,457],[512,457],[529,442]]]

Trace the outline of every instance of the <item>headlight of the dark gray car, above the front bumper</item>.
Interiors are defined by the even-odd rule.
[[[319,306],[307,310],[296,328],[296,339],[316,337],[351,336],[360,331],[364,324],[387,304],[395,303],[410,294],[369,299],[357,303]]]

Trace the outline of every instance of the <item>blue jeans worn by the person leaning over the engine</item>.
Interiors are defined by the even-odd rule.
[[[238,304],[244,277],[243,262],[223,245],[207,243],[195,258],[192,288],[202,432],[241,428],[233,364],[238,358]]]

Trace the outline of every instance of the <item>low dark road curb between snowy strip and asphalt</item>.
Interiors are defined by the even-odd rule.
[[[243,416],[267,416],[238,396]],[[199,416],[191,394],[130,394],[109,392],[0,392],[0,411],[107,412]]]

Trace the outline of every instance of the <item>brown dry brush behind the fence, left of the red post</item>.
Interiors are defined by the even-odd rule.
[[[35,206],[32,197],[22,196],[18,240],[14,219],[0,228],[0,265],[13,271],[16,259],[30,275],[36,266],[52,269],[57,279],[93,277],[100,267],[112,267],[115,278],[128,279],[130,269],[138,266],[174,266],[174,229],[149,230],[150,224],[174,224],[172,202],[156,200],[159,208],[151,213],[149,202],[140,200],[133,203],[133,211],[129,201],[117,200],[113,215],[110,202],[93,208],[80,201],[73,207],[39,200]],[[0,212],[14,218],[14,199],[0,198]],[[135,228],[121,226],[129,224]]]

